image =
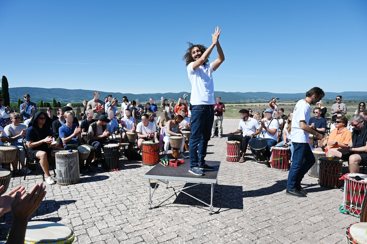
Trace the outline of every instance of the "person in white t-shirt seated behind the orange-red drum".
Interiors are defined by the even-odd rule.
[[[136,132],[138,132],[138,146],[142,149],[142,143],[145,141],[159,142],[156,126],[148,121],[149,115],[143,113],[141,122],[137,125]]]

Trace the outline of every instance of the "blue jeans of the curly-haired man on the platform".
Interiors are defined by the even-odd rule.
[[[193,105],[191,109],[191,136],[189,143],[190,167],[205,163],[205,156],[214,122],[213,105]],[[197,152],[199,150],[199,152]]]

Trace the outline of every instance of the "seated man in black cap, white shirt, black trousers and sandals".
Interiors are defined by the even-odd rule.
[[[255,135],[258,135],[257,131],[260,128],[259,121],[254,118],[249,117],[249,112],[247,109],[241,109],[240,113],[240,123],[238,125],[238,129],[235,132],[229,132],[228,141],[239,141],[241,142],[241,152],[242,156],[240,158],[239,163],[243,163],[244,156],[247,150],[248,141],[254,138]],[[242,135],[235,135],[242,132]]]

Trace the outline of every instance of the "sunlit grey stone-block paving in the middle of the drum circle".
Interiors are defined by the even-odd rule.
[[[238,122],[225,119],[224,133],[235,131]],[[288,172],[250,161],[227,162],[226,141],[226,137],[212,139],[207,155],[208,160],[222,162],[214,195],[217,214],[209,215],[207,207],[182,193],[149,210],[143,175],[150,167],[121,159],[120,171],[82,176],[76,185],[47,186],[46,198],[31,220],[69,226],[75,231],[76,244],[345,243],[346,227],[359,219],[339,212],[340,190],[320,187],[317,178],[306,175],[303,186],[308,197],[287,196]],[[30,189],[41,181],[41,176],[27,178],[13,178],[9,188]],[[199,185],[189,192],[208,200],[209,189]],[[163,186],[157,189],[159,194],[166,192]],[[4,240],[11,213],[0,222],[0,240]]]

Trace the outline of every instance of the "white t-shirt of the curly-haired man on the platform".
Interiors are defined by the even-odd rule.
[[[187,73],[191,83],[190,103],[192,105],[213,105],[214,100],[214,82],[211,73],[213,63],[200,65],[196,70],[192,68],[194,62],[187,66]]]

